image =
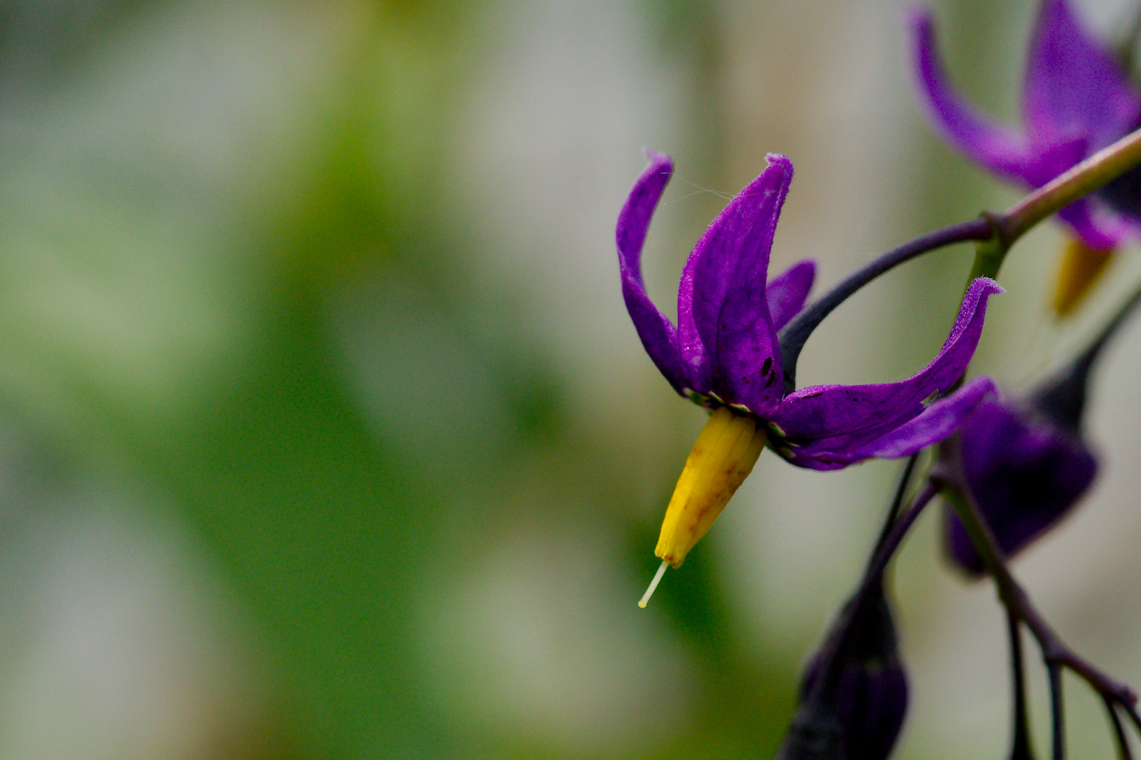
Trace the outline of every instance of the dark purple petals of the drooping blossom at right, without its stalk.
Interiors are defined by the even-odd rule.
[[[984,402],[960,441],[966,483],[1006,556],[1065,517],[1098,472],[1081,440],[1009,403]],[[946,542],[956,564],[982,572],[982,561],[949,509]]]

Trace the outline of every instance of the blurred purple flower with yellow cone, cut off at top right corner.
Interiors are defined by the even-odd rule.
[[[993,173],[1038,188],[1141,126],[1141,92],[1112,55],[1090,39],[1066,0],[1043,0],[1022,83],[1021,130],[990,122],[952,87],[936,49],[929,10],[908,16],[914,66],[928,113],[944,137]],[[1141,229],[1141,170],[1110,182],[1058,216],[1067,245],[1054,310],[1066,314],[1089,292],[1126,237]]]

